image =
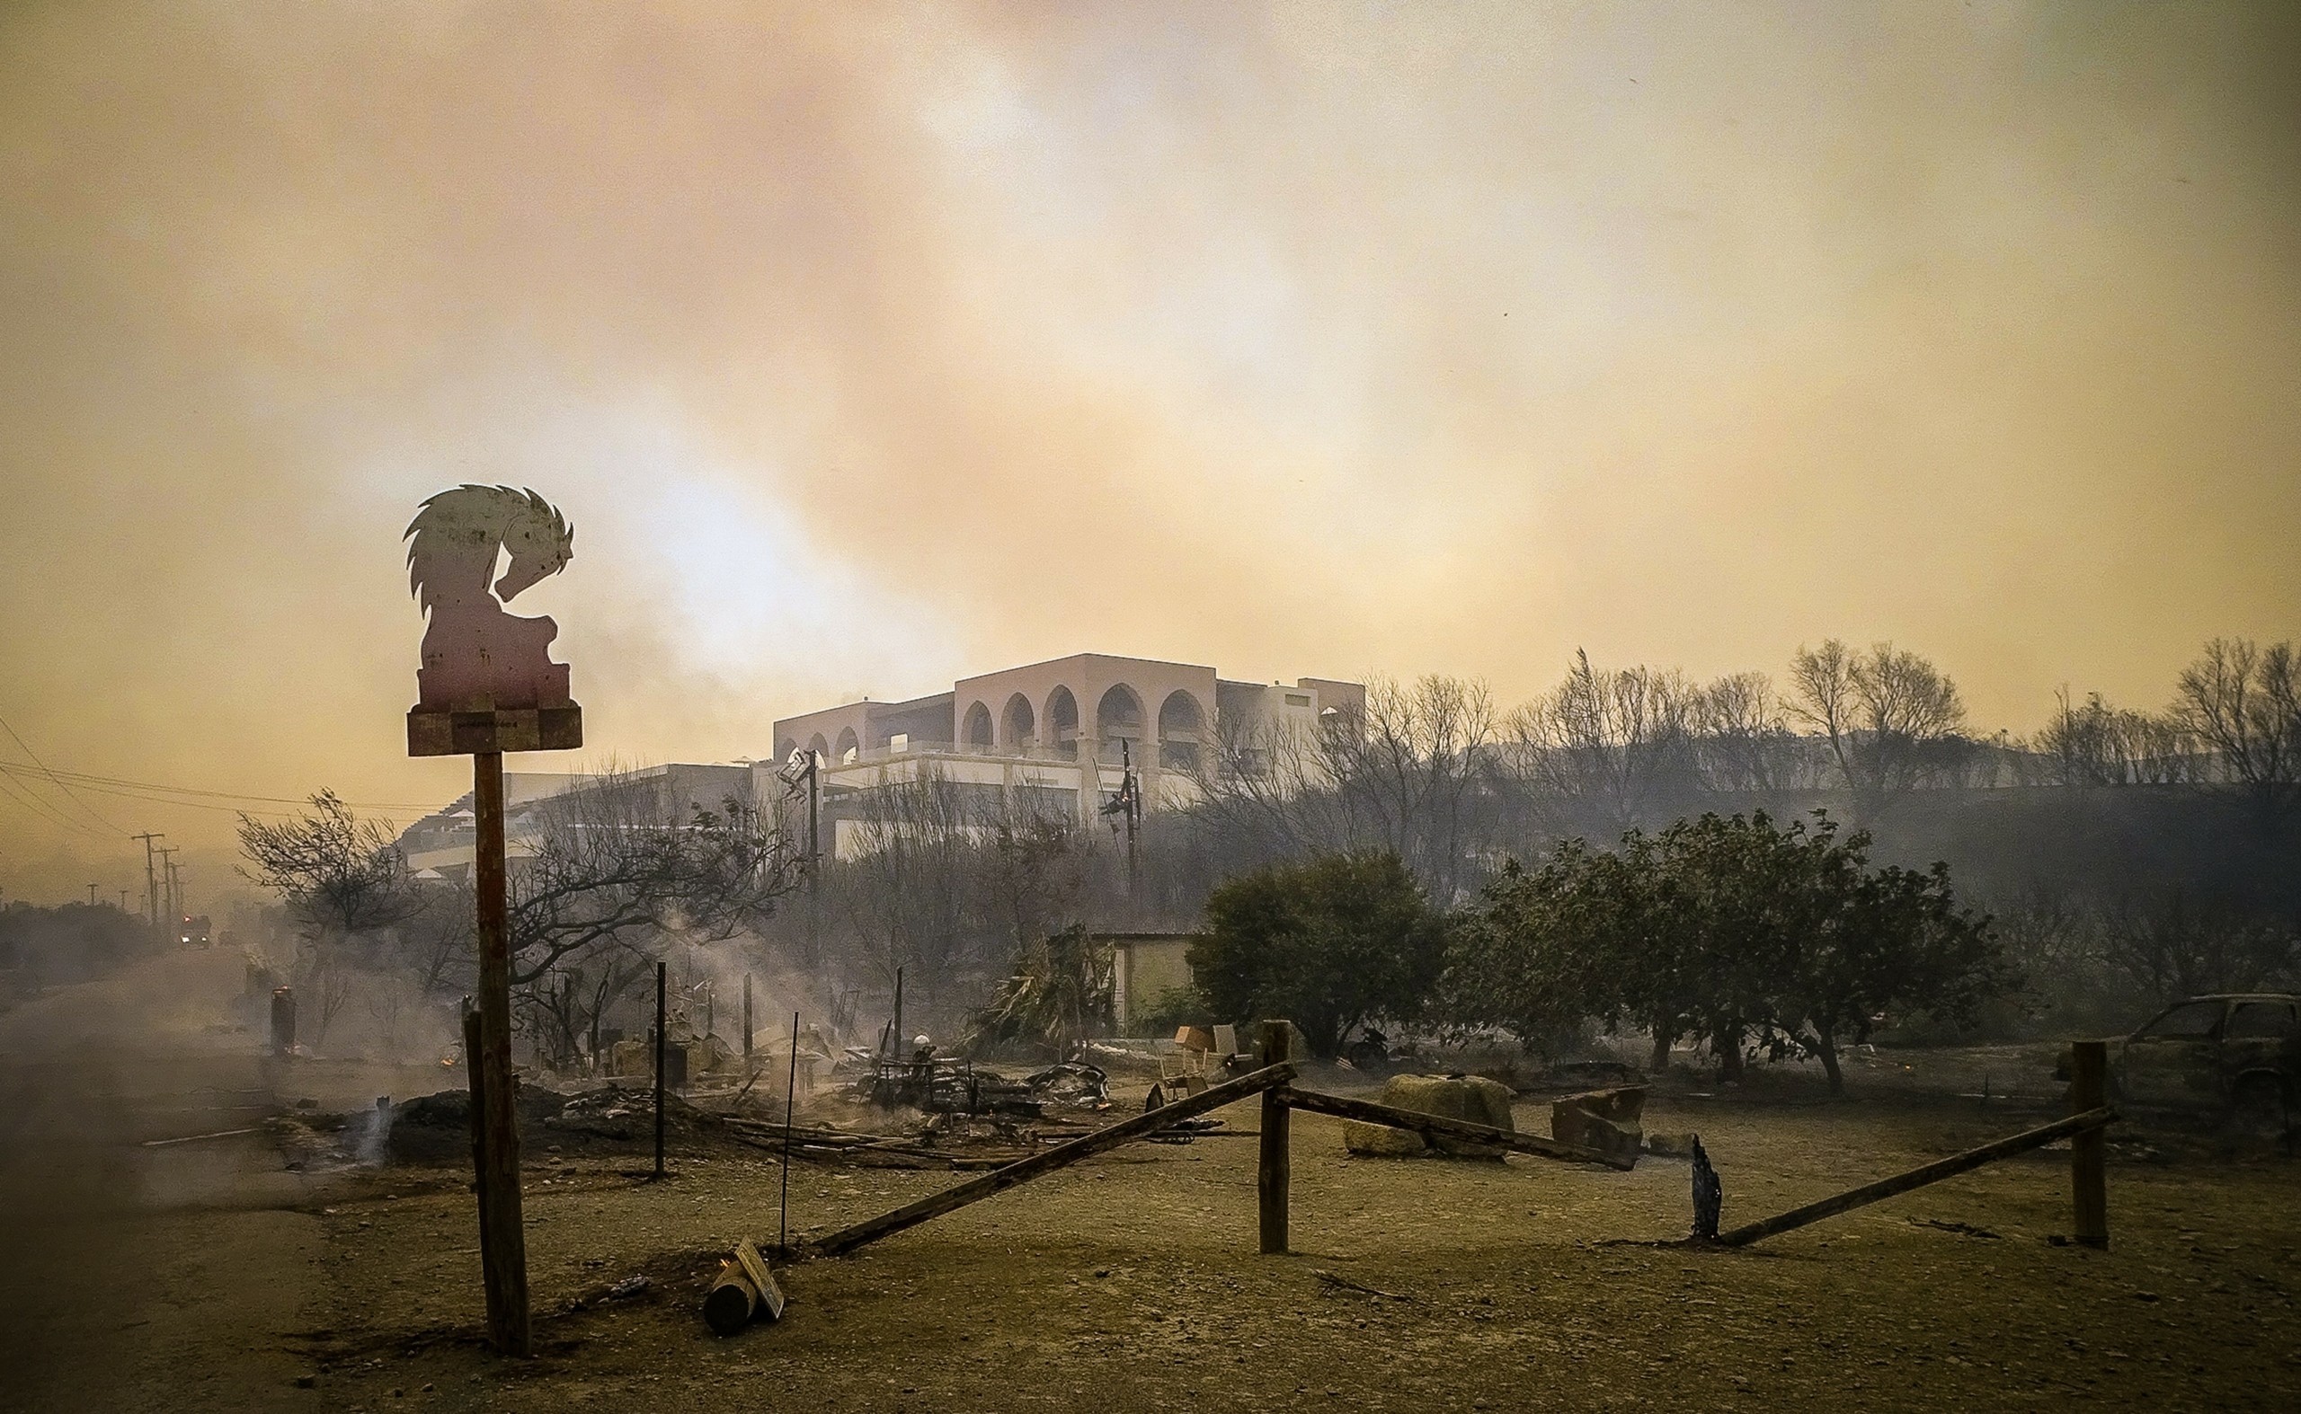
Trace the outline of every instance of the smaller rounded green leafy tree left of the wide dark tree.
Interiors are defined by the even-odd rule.
[[[1284,1016],[1330,1058],[1353,1025],[1422,1005],[1445,966],[1445,920],[1399,855],[1323,855],[1208,894],[1190,966],[1217,1016]]]

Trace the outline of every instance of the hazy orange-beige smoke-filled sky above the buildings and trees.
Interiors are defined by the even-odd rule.
[[[2103,0],[12,5],[0,713],[451,796],[398,536],[460,481],[578,527],[518,607],[589,761],[1077,651],[1519,699],[1836,635],[1983,727],[2158,706],[2301,628],[2296,55]],[[117,853],[0,800],[0,883]]]

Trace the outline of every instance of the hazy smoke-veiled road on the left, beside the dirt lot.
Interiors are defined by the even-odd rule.
[[[308,1403],[295,1334],[324,1317],[306,1179],[265,1133],[244,963],[150,959],[0,1014],[0,1409]],[[315,1407],[315,1405],[313,1405]]]

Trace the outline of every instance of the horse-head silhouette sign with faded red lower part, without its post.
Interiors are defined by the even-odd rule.
[[[575,556],[566,517],[532,490],[458,485],[423,501],[405,540],[407,589],[428,618],[407,754],[580,747],[582,708],[550,651],[559,625],[504,609]]]

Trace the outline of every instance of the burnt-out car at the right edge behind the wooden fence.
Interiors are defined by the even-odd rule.
[[[2301,996],[2255,991],[2174,1002],[2110,1062],[2124,1104],[2225,1111],[2283,1127],[2301,1094]]]

